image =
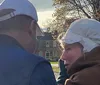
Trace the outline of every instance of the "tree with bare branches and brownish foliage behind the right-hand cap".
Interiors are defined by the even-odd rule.
[[[55,11],[53,20],[47,27],[50,31],[57,30],[59,33],[66,31],[71,22],[77,18],[87,17],[100,21],[100,0],[53,0]],[[67,15],[71,16],[70,19]],[[70,17],[69,16],[69,17]]]

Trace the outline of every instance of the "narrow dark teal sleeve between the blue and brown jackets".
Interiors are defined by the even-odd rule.
[[[65,68],[64,65],[64,61],[62,61],[61,59],[58,61],[59,63],[59,77],[57,80],[57,84],[62,84],[64,85],[65,80],[69,78],[68,74],[67,74],[67,69]]]

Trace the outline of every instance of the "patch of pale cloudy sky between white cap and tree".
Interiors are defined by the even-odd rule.
[[[41,28],[44,28],[43,24],[46,23],[47,19],[52,18],[54,7],[52,6],[52,0],[30,0],[37,9],[38,23]]]

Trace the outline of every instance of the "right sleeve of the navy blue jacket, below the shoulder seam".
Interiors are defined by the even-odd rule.
[[[37,65],[31,75],[29,85],[56,85],[51,65],[45,62]]]

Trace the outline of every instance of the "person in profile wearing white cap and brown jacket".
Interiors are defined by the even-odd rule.
[[[70,76],[65,85],[100,85],[100,22],[76,20],[60,42],[64,48],[60,59]]]

